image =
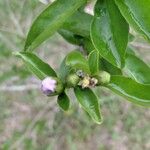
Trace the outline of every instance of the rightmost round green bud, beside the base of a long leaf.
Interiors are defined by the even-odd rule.
[[[110,82],[110,74],[106,71],[100,71],[97,79],[98,79],[98,84],[103,85],[103,84],[108,84]]]

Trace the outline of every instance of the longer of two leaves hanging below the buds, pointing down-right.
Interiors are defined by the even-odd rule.
[[[77,100],[83,107],[83,109],[91,116],[91,118],[98,124],[102,122],[100,114],[100,106],[98,98],[92,90],[86,88],[81,89],[79,87],[74,89]]]

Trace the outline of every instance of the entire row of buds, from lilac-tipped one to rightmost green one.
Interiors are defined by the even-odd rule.
[[[106,71],[100,71],[98,75],[91,77],[82,70],[76,73],[70,73],[66,78],[67,88],[81,86],[84,88],[92,88],[98,85],[105,85],[110,82],[110,74]],[[64,85],[60,79],[56,77],[46,77],[41,84],[43,93],[47,96],[59,95],[64,90]]]

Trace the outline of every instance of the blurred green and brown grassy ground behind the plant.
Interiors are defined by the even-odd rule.
[[[150,150],[150,109],[100,88],[95,92],[103,124],[93,123],[71,91],[71,109],[62,112],[12,55],[23,49],[32,20],[44,7],[38,0],[0,0],[0,150]],[[137,35],[130,44],[150,62],[146,41]],[[74,48],[55,34],[36,53],[57,70]]]

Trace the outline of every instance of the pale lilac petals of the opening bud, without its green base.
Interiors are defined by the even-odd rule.
[[[56,83],[57,81],[54,80],[53,78],[46,77],[42,81],[42,86],[41,86],[43,93],[46,94],[47,96],[53,94],[56,90]]]

